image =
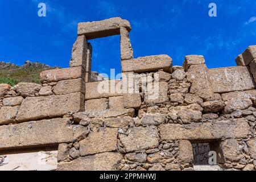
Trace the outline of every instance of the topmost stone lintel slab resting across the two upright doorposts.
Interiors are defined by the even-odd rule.
[[[87,40],[119,35],[120,27],[131,31],[130,23],[120,17],[105,19],[97,22],[84,22],[78,24],[78,35],[84,34]]]

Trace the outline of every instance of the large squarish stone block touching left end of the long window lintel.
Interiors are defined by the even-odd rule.
[[[150,127],[133,127],[129,135],[119,134],[126,152],[147,150],[158,147],[158,133]]]

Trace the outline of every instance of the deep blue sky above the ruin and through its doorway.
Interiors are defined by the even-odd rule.
[[[46,17],[38,4],[46,3]],[[217,17],[209,17],[209,3]],[[167,54],[174,65],[184,56],[204,55],[208,68],[236,65],[234,59],[256,44],[255,0],[73,0],[0,1],[0,60],[26,60],[68,67],[77,23],[121,16],[130,21],[134,56]],[[119,36],[90,40],[92,69],[121,70]]]

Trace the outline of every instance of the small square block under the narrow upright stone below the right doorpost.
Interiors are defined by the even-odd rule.
[[[123,105],[125,106],[125,108],[141,107],[141,95],[138,93],[123,94]]]

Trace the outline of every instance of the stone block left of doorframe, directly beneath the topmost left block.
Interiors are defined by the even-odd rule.
[[[73,80],[61,80],[53,87],[53,93],[56,95],[64,95],[74,92],[84,93],[84,83],[81,78]]]

